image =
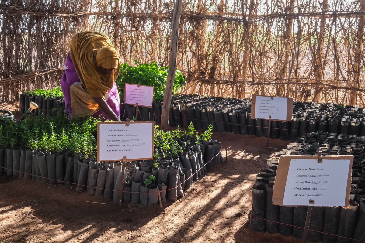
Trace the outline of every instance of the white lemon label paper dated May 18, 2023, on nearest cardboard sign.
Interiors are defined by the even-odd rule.
[[[350,160],[292,159],[283,205],[345,206],[349,166]]]

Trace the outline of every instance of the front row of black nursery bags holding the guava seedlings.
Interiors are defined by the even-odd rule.
[[[183,196],[183,191],[193,181],[204,176],[204,170],[223,162],[219,142],[211,141],[206,146],[201,144],[191,148],[179,156],[161,156],[157,162],[127,162],[124,203],[141,203],[144,206],[156,204],[157,189],[162,192],[162,203],[166,202],[166,192],[168,199],[175,201],[178,196]],[[120,200],[121,170],[121,162],[97,162],[77,154],[0,149],[0,175],[5,172],[10,177],[19,176],[44,183],[74,184],[78,192],[104,195],[105,198],[113,199],[114,203]],[[153,175],[153,179],[147,185],[145,181],[150,175]]]

